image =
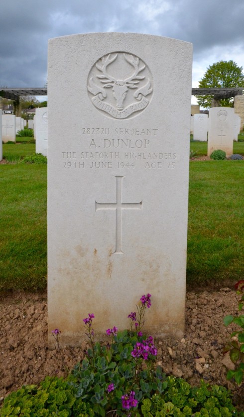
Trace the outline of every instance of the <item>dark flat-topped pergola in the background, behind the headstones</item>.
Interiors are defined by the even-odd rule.
[[[21,108],[19,105],[19,97],[21,95],[47,95],[47,87],[43,88],[1,88],[0,97],[13,100],[14,113],[18,114]],[[243,95],[243,87],[236,88],[192,88],[192,95],[213,95],[214,100],[221,98],[235,97]]]

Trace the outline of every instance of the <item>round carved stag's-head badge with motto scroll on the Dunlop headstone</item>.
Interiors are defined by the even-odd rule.
[[[138,56],[112,52],[93,65],[87,89],[98,110],[109,117],[125,119],[138,114],[150,103],[152,75]]]

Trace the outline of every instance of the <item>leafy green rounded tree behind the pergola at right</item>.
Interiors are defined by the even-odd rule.
[[[243,67],[236,62],[219,61],[207,68],[203,78],[199,81],[200,88],[236,88],[244,87]],[[211,107],[213,95],[197,96],[198,104],[201,107]],[[220,106],[233,107],[234,98],[223,98],[219,100]]]

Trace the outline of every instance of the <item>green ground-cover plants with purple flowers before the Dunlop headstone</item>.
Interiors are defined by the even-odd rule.
[[[166,377],[155,366],[153,338],[143,335],[150,298],[150,294],[143,295],[137,312],[128,315],[131,330],[108,329],[103,345],[95,342],[95,317],[88,314],[83,322],[90,348],[82,363],[65,380],[46,377],[40,387],[25,386],[11,393],[4,399],[0,415],[243,417],[226,388],[203,381],[200,387],[191,387],[181,378]],[[58,351],[61,331],[52,333]]]

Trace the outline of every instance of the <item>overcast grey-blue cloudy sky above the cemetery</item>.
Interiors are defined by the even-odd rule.
[[[0,0],[0,86],[43,87],[49,38],[113,31],[192,42],[197,87],[214,62],[244,67],[243,21],[244,0]]]

